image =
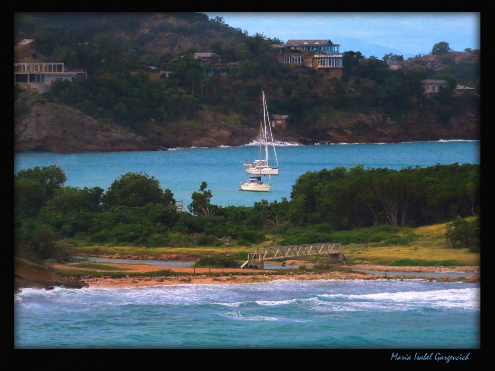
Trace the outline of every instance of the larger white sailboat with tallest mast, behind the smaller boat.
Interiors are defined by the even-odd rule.
[[[246,171],[249,174],[260,174],[260,175],[278,175],[279,164],[277,159],[277,152],[275,151],[275,143],[273,142],[272,128],[270,126],[270,119],[268,117],[268,107],[266,106],[265,92],[263,93],[263,121],[260,122],[259,128],[259,160],[254,160],[252,164],[244,164]],[[266,122],[268,121],[268,129],[270,130],[270,138],[268,138],[268,132],[266,130]],[[271,145],[273,147],[273,153],[275,155],[275,161],[277,166],[270,166],[268,161],[268,141],[271,140]],[[265,158],[261,159],[261,150],[265,150]],[[246,160],[247,162],[247,160]]]

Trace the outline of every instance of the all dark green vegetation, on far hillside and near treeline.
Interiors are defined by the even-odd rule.
[[[479,66],[455,63],[446,42],[433,46],[431,54],[442,59],[447,67],[442,71],[428,63],[392,71],[389,62],[407,61],[393,53],[381,60],[347,51],[344,76],[336,79],[280,64],[270,45],[283,41],[250,36],[221,17],[208,19],[199,12],[16,13],[14,21],[14,43],[15,38],[34,39],[34,59],[64,62],[88,73],[87,79],[56,82],[36,100],[14,90],[16,119],[28,115],[30,105],[50,101],[145,136],[150,129],[177,135],[187,125],[207,126],[204,112],[236,114],[230,125],[256,125],[264,90],[270,113],[288,114],[291,130],[318,136],[345,115],[380,114],[404,126],[416,124],[414,117],[433,115],[448,126],[456,115],[477,112],[479,106]],[[205,51],[217,53],[223,65],[237,72],[206,75],[205,65],[192,56]],[[413,59],[422,61],[419,55]],[[172,73],[166,78],[142,65]],[[426,98],[420,84],[425,78],[446,79],[448,87]],[[456,93],[457,83],[476,86],[477,94]],[[172,192],[145,173],[124,174],[106,191],[65,186],[65,181],[57,166],[14,175],[17,255],[64,258],[74,243],[248,246],[267,235],[287,245],[336,240],[405,244],[407,234],[396,231],[442,222],[452,222],[447,238],[457,247],[476,245],[472,235],[479,231],[479,224],[456,219],[479,215],[479,165],[322,170],[301,175],[291,200],[251,207],[215,205],[203,182],[191,196],[189,212],[177,212]]]

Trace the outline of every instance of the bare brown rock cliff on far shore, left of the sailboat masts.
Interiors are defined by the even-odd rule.
[[[221,123],[196,128],[180,135],[150,130],[147,137],[126,133],[116,125],[103,124],[61,104],[34,106],[14,120],[16,152],[116,152],[156,151],[176,147],[218,147],[249,143],[258,135],[247,127],[229,128]]]

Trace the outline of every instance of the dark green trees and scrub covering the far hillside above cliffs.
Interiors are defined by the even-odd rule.
[[[449,66],[443,71],[428,66],[392,71],[387,62],[401,60],[400,56],[390,53],[381,60],[347,51],[344,76],[336,79],[315,69],[278,63],[270,48],[282,43],[277,38],[250,36],[246,30],[229,27],[222,17],[208,19],[198,12],[87,13],[84,17],[80,13],[18,13],[15,22],[24,36],[36,40],[40,59],[88,72],[87,79],[57,82],[45,94],[49,101],[142,135],[150,127],[180,133],[184,130],[181,120],[197,120],[196,125],[201,125],[203,111],[236,113],[242,117],[238,124],[256,125],[261,90],[270,96],[271,112],[288,114],[291,130],[306,133],[331,127],[329,117],[335,120],[339,113],[384,114],[400,123],[419,110],[419,116],[433,113],[448,125],[452,117],[477,110],[479,104],[476,94],[454,94],[457,82],[468,86],[477,82],[479,87],[479,68],[455,64],[448,59],[450,50],[440,55]],[[145,28],[147,32],[138,32]],[[162,40],[160,45],[166,46],[150,47]],[[193,46],[182,47],[185,40]],[[437,44],[433,51],[437,49],[445,47]],[[195,51],[213,51],[237,72],[205,75],[205,65],[192,57]],[[139,69],[141,65],[156,65],[172,74],[154,79]],[[446,78],[449,88],[427,99],[420,85],[425,78]],[[29,112],[22,102],[16,107],[18,114]]]

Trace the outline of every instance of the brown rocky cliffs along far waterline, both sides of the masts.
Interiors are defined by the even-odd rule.
[[[398,124],[384,115],[354,115],[332,127],[315,125],[307,132],[275,130],[277,140],[314,143],[393,143],[440,139],[480,139],[477,113],[466,112],[448,125],[433,116],[412,115]],[[179,135],[148,131],[147,137],[126,133],[118,126],[103,124],[65,105],[47,103],[15,120],[16,152],[114,152],[156,151],[176,147],[218,147],[247,144],[258,138],[248,127],[229,127],[207,122]]]

